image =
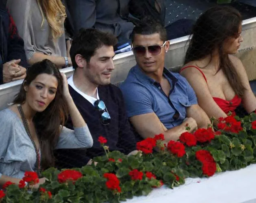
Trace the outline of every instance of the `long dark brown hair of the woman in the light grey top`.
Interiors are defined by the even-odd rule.
[[[50,60],[43,60],[35,63],[27,70],[27,76],[24,79],[24,85],[29,85],[40,74],[49,74],[56,77],[58,87],[56,95],[49,106],[43,112],[37,112],[33,117],[33,123],[41,143],[41,166],[46,169],[54,166],[53,149],[56,146],[59,135],[60,125],[65,124],[67,119],[67,106],[63,97],[63,80],[59,69]],[[26,101],[26,92],[24,85],[16,95],[13,103],[24,104]]]

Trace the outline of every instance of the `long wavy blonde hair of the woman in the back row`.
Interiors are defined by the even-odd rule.
[[[46,16],[47,22],[52,30],[52,37],[54,39],[61,37],[64,33],[63,23],[67,17],[65,6],[61,0],[37,0],[37,4],[43,18],[41,27],[44,23],[44,16]]]

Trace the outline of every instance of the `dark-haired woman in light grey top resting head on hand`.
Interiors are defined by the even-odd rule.
[[[74,130],[63,127],[67,114]],[[28,69],[13,105],[0,111],[0,126],[0,188],[6,181],[19,184],[26,171],[40,177],[41,170],[54,166],[53,149],[93,145],[65,74],[47,59]]]

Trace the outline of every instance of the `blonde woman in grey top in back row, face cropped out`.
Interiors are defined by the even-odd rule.
[[[59,68],[72,65],[67,57],[66,13],[61,0],[8,0],[7,7],[24,39],[30,65],[43,59],[51,60]]]

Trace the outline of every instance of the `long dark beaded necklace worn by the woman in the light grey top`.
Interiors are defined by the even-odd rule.
[[[28,134],[28,137],[30,138],[30,140],[31,140],[31,142],[32,142],[32,144],[35,148],[35,153],[37,155],[37,160],[36,160],[36,164],[35,164],[36,165],[35,171],[37,172],[38,177],[40,177],[40,175],[41,175],[41,159],[40,159],[39,149],[40,149],[41,143],[39,141],[39,149],[37,151],[37,146],[36,146],[35,141],[33,140],[32,136],[31,136],[31,133],[30,133],[30,130],[29,130],[29,127],[28,127],[28,121],[27,121],[27,119],[24,115],[24,112],[22,110],[22,106],[20,104],[18,104],[17,108],[20,112],[20,116],[22,117],[22,122],[23,122],[24,128],[25,128],[25,130]]]

